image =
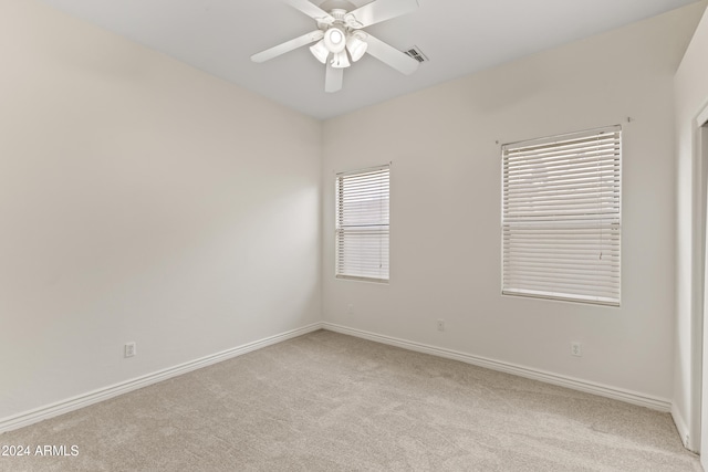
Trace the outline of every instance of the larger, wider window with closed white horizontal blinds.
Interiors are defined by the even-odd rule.
[[[502,146],[502,293],[620,305],[620,126]]]

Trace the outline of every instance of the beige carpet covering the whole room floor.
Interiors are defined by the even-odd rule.
[[[0,444],[33,448],[2,471],[701,470],[666,413],[324,331]]]

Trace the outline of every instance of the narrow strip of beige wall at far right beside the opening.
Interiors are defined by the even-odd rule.
[[[704,290],[701,255],[704,249],[700,233],[705,218],[701,214],[705,211],[705,204],[700,200],[708,183],[700,176],[705,175],[705,166],[708,161],[699,156],[696,118],[701,111],[708,111],[708,15],[706,14],[678,67],[675,82],[678,197],[677,328],[673,413],[684,441],[689,449],[697,450],[700,443],[699,395]],[[708,327],[708,324],[706,326]]]

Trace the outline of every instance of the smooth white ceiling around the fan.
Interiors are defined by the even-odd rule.
[[[366,31],[430,60],[406,76],[365,55],[324,92],[308,48],[257,64],[251,54],[316,28],[281,0],[42,0],[316,118],[330,118],[696,0],[419,0]],[[312,0],[320,4],[322,0]],[[369,0],[351,0],[360,7]]]

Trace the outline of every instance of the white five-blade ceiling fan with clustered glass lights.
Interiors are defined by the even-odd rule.
[[[406,75],[418,69],[417,60],[362,31],[372,24],[416,10],[418,0],[374,0],[360,8],[355,8],[346,0],[326,0],[320,7],[309,0],[282,1],[315,20],[317,29],[253,54],[251,61],[264,62],[315,43],[310,46],[310,51],[321,63],[326,64],[324,80],[326,92],[342,90],[344,69],[362,59],[365,53]]]

